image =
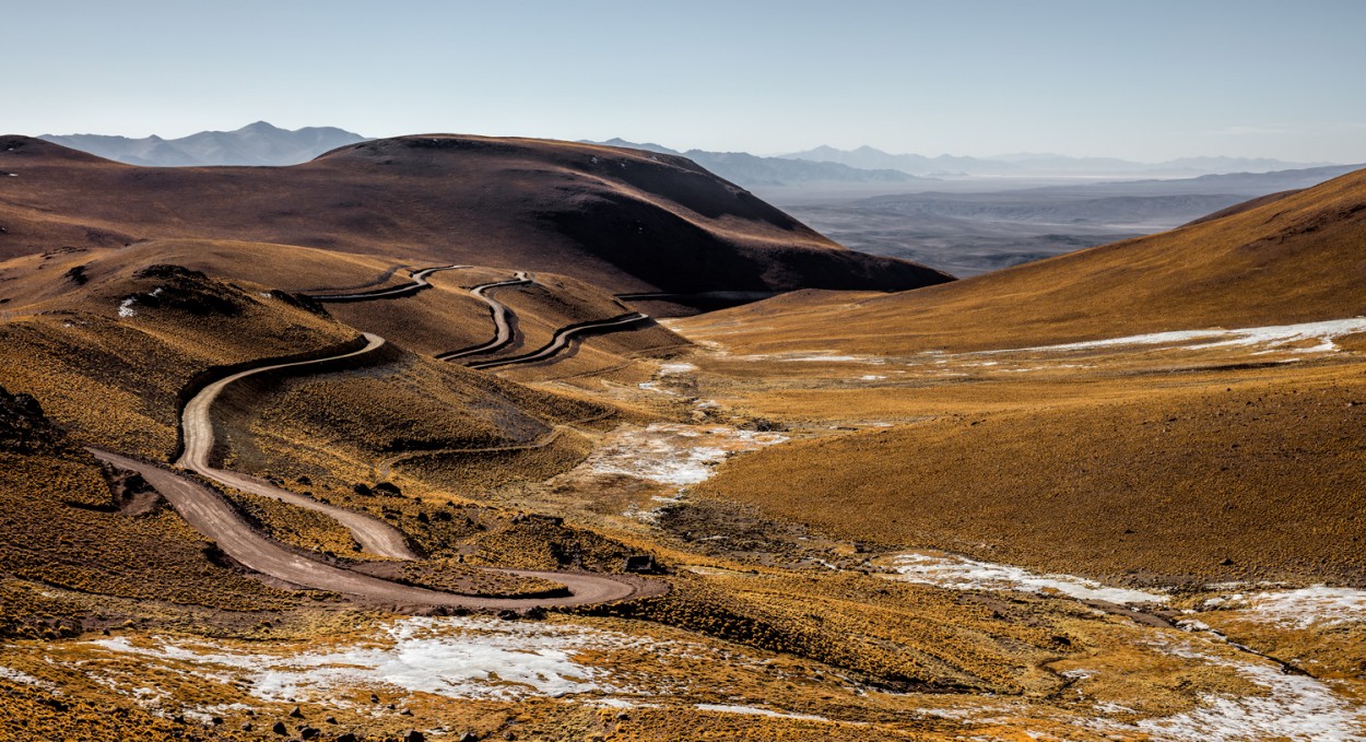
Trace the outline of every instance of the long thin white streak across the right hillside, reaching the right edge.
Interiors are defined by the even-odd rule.
[[[1335,338],[1366,332],[1366,317],[1352,317],[1347,320],[1326,320],[1321,322],[1300,322],[1294,325],[1268,325],[1238,329],[1183,329],[1175,332],[1153,332],[1149,335],[1131,335],[1127,338],[1111,338],[1105,340],[1086,340],[1082,343],[1063,343],[1057,346],[1038,346],[1015,350],[993,350],[985,353],[1019,353],[1019,351],[1067,351],[1090,350],[1115,346],[1169,346],[1190,343],[1191,340],[1213,340],[1201,344],[1184,344],[1190,350],[1202,350],[1229,346],[1288,346],[1317,340],[1318,344],[1309,348],[1294,348],[1295,353],[1330,353],[1337,350]]]

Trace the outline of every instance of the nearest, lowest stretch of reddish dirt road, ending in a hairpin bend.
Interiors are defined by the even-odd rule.
[[[92,448],[90,452],[113,466],[142,474],[190,526],[216,542],[219,548],[242,566],[302,588],[361,596],[395,605],[448,605],[486,609],[608,603],[639,594],[658,593],[663,589],[660,583],[635,583],[597,574],[534,570],[497,571],[559,582],[568,588],[571,594],[564,597],[494,599],[458,596],[400,585],[294,553],[253,530],[221,495],[198,482],[165,469],[108,451]]]

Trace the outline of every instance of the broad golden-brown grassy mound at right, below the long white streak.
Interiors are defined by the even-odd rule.
[[[697,492],[844,538],[1111,579],[1359,582],[1359,363],[1150,379],[884,389],[892,414],[925,420],[746,455]]]

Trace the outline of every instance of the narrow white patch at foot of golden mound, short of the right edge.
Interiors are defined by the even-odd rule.
[[[1009,564],[977,562],[948,553],[903,553],[893,567],[902,579],[953,590],[1057,590],[1079,600],[1108,603],[1165,603],[1167,596],[1146,590],[1108,588],[1100,582],[1065,574],[1040,575]]]

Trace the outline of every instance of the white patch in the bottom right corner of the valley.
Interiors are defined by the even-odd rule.
[[[1142,719],[1126,728],[1138,728],[1160,739],[1202,739],[1236,742],[1247,739],[1294,739],[1363,742],[1366,715],[1333,694],[1321,681],[1306,675],[1284,675],[1270,664],[1235,663],[1188,648],[1169,653],[1233,668],[1247,681],[1266,689],[1265,696],[1231,697],[1208,694],[1201,706],[1175,716]]]

